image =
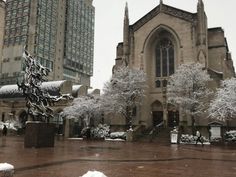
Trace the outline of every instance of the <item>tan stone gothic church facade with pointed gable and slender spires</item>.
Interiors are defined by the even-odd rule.
[[[132,25],[126,5],[123,30],[123,42],[117,46],[113,69],[126,64],[147,73],[148,89],[142,106],[137,109],[136,125],[191,126],[190,116],[169,105],[166,98],[167,80],[181,64],[201,63],[213,78],[209,84],[212,88],[218,87],[221,80],[235,76],[224,30],[208,28],[202,0],[198,0],[196,13],[168,6],[160,0],[157,7]],[[209,122],[202,118],[196,124],[205,126]],[[122,122],[114,120],[113,124]]]

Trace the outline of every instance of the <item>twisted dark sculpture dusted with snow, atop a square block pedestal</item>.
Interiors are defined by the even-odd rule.
[[[17,82],[17,85],[25,97],[28,115],[32,117],[33,121],[49,122],[49,119],[53,118],[51,104],[61,99],[71,99],[71,97],[51,96],[43,90],[42,83],[46,81],[50,70],[37,62],[26,50],[23,57],[25,58],[25,74],[22,82]]]

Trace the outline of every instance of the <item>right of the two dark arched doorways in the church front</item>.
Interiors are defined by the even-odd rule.
[[[179,126],[179,111],[172,104],[167,105],[168,111],[168,127]]]

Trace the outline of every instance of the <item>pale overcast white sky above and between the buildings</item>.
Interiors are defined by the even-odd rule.
[[[103,88],[112,74],[116,46],[123,39],[125,3],[129,7],[130,24],[135,23],[159,5],[159,0],[93,0],[95,7],[93,88]],[[164,4],[188,12],[197,11],[198,0],[163,0]],[[236,0],[203,0],[208,17],[208,28],[222,27],[236,66]]]

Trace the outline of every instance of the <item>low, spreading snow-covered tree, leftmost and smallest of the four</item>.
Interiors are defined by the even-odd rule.
[[[71,106],[65,107],[63,114],[68,118],[81,119],[85,128],[91,127],[91,122],[101,118],[100,99],[88,95],[74,99]]]

